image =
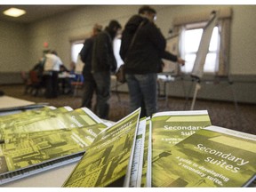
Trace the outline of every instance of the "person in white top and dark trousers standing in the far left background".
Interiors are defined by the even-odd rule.
[[[60,66],[63,65],[56,51],[45,54],[44,62],[44,83],[45,97],[57,98],[59,92],[58,75]]]

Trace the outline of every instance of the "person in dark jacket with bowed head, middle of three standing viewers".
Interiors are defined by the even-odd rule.
[[[110,75],[116,71],[116,58],[113,52],[113,40],[121,25],[111,20],[108,27],[95,37],[92,48],[92,76],[96,82],[96,114],[108,119],[110,98]]]

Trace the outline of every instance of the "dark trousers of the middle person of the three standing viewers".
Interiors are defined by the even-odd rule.
[[[108,119],[110,99],[110,71],[96,72],[93,75],[96,83],[96,115]]]

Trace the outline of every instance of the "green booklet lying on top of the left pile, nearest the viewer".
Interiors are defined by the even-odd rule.
[[[96,136],[106,128],[106,124],[93,124],[5,135],[5,142],[0,145],[0,184],[28,176],[28,173],[42,172],[43,168],[47,168],[44,164],[52,165],[56,160],[60,163],[68,156],[83,156]]]

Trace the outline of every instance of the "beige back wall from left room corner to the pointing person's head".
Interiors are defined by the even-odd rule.
[[[71,61],[70,42],[90,36],[92,27],[99,23],[106,27],[109,20],[116,19],[124,25],[132,12],[137,12],[138,6],[92,6],[81,5],[76,11],[67,12],[54,18],[42,20],[29,26],[30,62],[36,60],[44,49],[44,42],[49,48],[55,49],[64,64],[68,67]]]

